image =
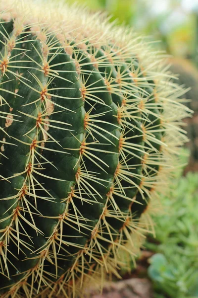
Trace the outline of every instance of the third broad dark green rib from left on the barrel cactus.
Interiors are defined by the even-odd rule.
[[[84,56],[83,56],[84,55]],[[95,109],[92,109],[90,115],[96,115],[96,118],[94,118],[94,120],[98,120],[99,122],[97,122],[97,126],[98,126],[98,131],[99,128],[101,127],[102,129],[105,129],[106,132],[102,132],[102,135],[105,138],[102,137],[102,135],[98,135],[97,132],[92,131],[93,136],[99,141],[99,143],[101,143],[100,146],[97,146],[95,144],[93,145],[89,145],[90,148],[98,148],[101,149],[102,151],[95,151],[94,153],[96,154],[97,157],[99,157],[102,161],[105,159],[105,162],[107,163],[107,165],[109,167],[107,167],[106,165],[102,165],[101,161],[97,161],[97,163],[102,166],[102,168],[106,171],[103,171],[101,168],[99,168],[99,166],[97,166],[96,164],[94,164],[93,162],[90,162],[90,160],[85,157],[85,163],[88,171],[94,171],[96,173],[98,173],[97,177],[100,177],[102,175],[102,178],[104,180],[109,180],[113,178],[113,174],[115,171],[115,168],[117,166],[118,163],[118,143],[119,143],[119,125],[117,123],[117,119],[116,119],[116,115],[117,115],[117,106],[113,103],[112,101],[112,97],[111,94],[109,94],[107,87],[104,83],[103,77],[100,74],[99,70],[97,70],[96,68],[94,68],[94,66],[91,64],[91,60],[90,58],[87,56],[86,52],[82,53],[79,52],[79,56],[82,57],[83,56],[83,62],[82,62],[82,66],[81,66],[81,72],[84,75],[85,81],[87,80],[87,86],[88,86],[88,92],[90,93],[90,96],[96,95],[97,97],[99,97],[104,104],[102,103],[97,103],[94,107]],[[78,56],[77,56],[78,58]],[[87,63],[87,65],[86,65]],[[81,61],[80,61],[80,65],[81,65]],[[92,75],[86,74],[86,71],[89,71],[92,73]],[[89,91],[89,85],[92,84],[93,90]],[[96,89],[96,93],[95,93],[95,88],[99,87],[98,89]],[[87,99],[89,101],[89,99]],[[86,112],[88,112],[90,110],[89,105],[86,103],[85,104],[85,109]],[[97,116],[97,114],[102,113],[104,114],[104,117],[99,117]],[[94,121],[93,120],[93,121]],[[105,122],[102,122],[105,121]],[[108,122],[108,123],[106,123]],[[108,134],[108,132],[111,133]],[[113,137],[112,135],[114,135],[115,137]],[[93,143],[93,137],[91,135],[89,135],[89,132],[86,132],[86,142],[92,142]],[[108,140],[111,142],[108,142]],[[112,153],[109,153],[107,151],[110,151]],[[110,181],[110,180],[109,180]],[[102,184],[104,184],[105,188],[103,189],[103,191],[101,192],[102,196],[104,197],[103,203],[105,203],[105,195],[106,193],[109,191],[111,184],[109,185],[109,183],[105,183],[102,182]],[[100,189],[100,185],[97,186],[97,189]]]

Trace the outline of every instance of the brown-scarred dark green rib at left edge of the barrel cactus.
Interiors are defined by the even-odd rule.
[[[31,36],[31,37],[29,37],[29,39],[33,40],[34,38]],[[39,41],[35,40],[35,41],[31,41],[31,42],[32,42],[32,44],[34,44],[34,46],[38,49],[38,51],[41,54]],[[26,43],[26,50],[31,49],[31,48],[32,48],[31,43],[27,42]],[[4,49],[1,50],[1,53],[3,51],[4,51]],[[18,50],[13,49],[11,51],[10,59],[14,55],[17,55],[18,53],[19,53]],[[28,52],[28,55],[29,55],[30,58],[37,61],[38,63],[42,63],[42,61],[40,59],[40,56],[38,55],[38,53],[36,51],[30,51],[30,52]],[[24,60],[24,61],[29,61],[29,62],[24,62],[24,63],[18,64],[17,60],[20,60],[20,61]],[[18,140],[20,140],[22,142],[26,142],[26,143],[31,145],[31,139],[34,139],[35,134],[36,134],[36,129],[34,129],[34,130],[32,130],[32,132],[30,134],[28,134],[28,136],[31,139],[28,138],[27,136],[23,136],[29,130],[34,128],[34,126],[36,124],[36,120],[31,118],[31,117],[28,117],[26,115],[23,115],[20,112],[23,112],[25,114],[37,117],[38,116],[38,110],[41,111],[41,112],[43,110],[42,104],[40,104],[38,102],[37,102],[37,105],[30,104],[30,105],[27,105],[27,106],[22,106],[22,105],[26,105],[28,103],[31,103],[32,101],[34,101],[34,100],[36,100],[40,97],[38,92],[32,90],[26,84],[29,84],[34,89],[36,89],[38,91],[41,91],[40,85],[33,78],[33,76],[31,74],[37,75],[37,77],[40,79],[40,81],[42,83],[45,84],[45,82],[46,82],[46,78],[44,77],[44,74],[42,72],[38,73],[37,70],[36,70],[37,65],[35,63],[32,63],[31,59],[28,59],[25,55],[23,55],[23,54],[19,55],[19,56],[15,57],[14,60],[12,60],[12,61],[16,61],[16,64],[15,64],[16,68],[12,68],[11,70],[15,73],[16,73],[16,71],[19,74],[23,73],[23,78],[18,78],[17,79],[13,74],[10,74],[9,72],[6,72],[9,79],[13,79],[13,83],[7,85],[6,88],[7,88],[7,90],[10,90],[10,91],[13,91],[15,88],[18,88],[19,89],[18,94],[21,97],[17,97],[15,95],[10,95],[7,92],[4,92],[3,96],[7,100],[7,102],[10,103],[10,106],[13,109],[12,114],[19,116],[18,118],[16,118],[14,116],[14,119],[20,119],[21,122],[13,121],[11,126],[6,128],[6,132],[11,137],[9,139],[10,143],[13,143],[13,144],[17,145],[17,150],[13,149],[14,146],[9,146],[9,145],[4,146],[6,156],[9,158],[9,159],[7,159],[5,157],[2,157],[2,159],[1,159],[2,165],[0,166],[0,173],[4,177],[9,177],[9,176],[12,176],[14,173],[20,173],[20,172],[23,172],[25,170],[27,157],[28,157],[28,154],[30,152],[30,146],[27,146],[27,145],[19,142]],[[24,67],[24,66],[28,67],[29,69],[31,69],[32,73],[30,74],[28,72],[28,69],[24,69],[24,68],[20,69],[20,67],[18,67],[19,65],[21,65],[22,67]],[[12,64],[12,66],[14,66],[14,64]],[[19,110],[20,110],[20,112],[19,112]],[[12,138],[12,136],[15,139]],[[6,139],[7,139],[7,137],[6,137]],[[16,140],[16,139],[18,139],[18,140]],[[13,152],[14,152],[14,154],[13,154]],[[21,174],[19,176],[16,176],[14,178],[11,178],[10,179],[11,183],[9,183],[5,180],[0,181],[0,189],[1,189],[0,198],[6,198],[6,197],[16,195],[18,193],[17,190],[20,189],[23,186],[25,177],[26,177],[26,173]],[[28,183],[28,181],[27,181],[27,183]],[[26,199],[30,204],[34,205],[34,199],[33,198],[29,198],[29,197],[26,196]],[[10,215],[12,213],[12,211],[14,210],[14,208],[17,207],[17,205],[19,207],[22,207],[22,206],[25,205],[24,207],[26,208],[26,204],[24,202],[23,202],[24,205],[22,205],[22,201],[18,201],[18,202],[17,201],[15,202],[15,201],[16,201],[16,199],[1,200],[0,201],[1,207],[2,206],[4,207],[4,208],[1,208],[1,210],[0,210],[0,212],[2,211],[1,219],[3,218],[3,216],[6,217],[7,215]],[[28,203],[28,205],[29,205],[29,203]],[[30,205],[29,205],[29,208],[30,208],[31,212],[35,213],[35,210]],[[4,209],[7,210],[7,213],[5,213],[5,214],[3,214]],[[28,220],[31,224],[33,224],[32,219],[30,218],[30,216],[28,216],[28,214],[26,214],[26,220]],[[0,223],[0,228],[5,227],[6,224],[8,225],[10,222],[11,222],[11,218],[9,220],[5,220],[5,222],[2,221]],[[26,222],[23,221],[22,219],[20,219],[20,222],[22,223],[23,228],[24,228],[24,230],[23,230],[20,225],[18,227],[20,240],[24,241],[25,245],[27,245],[27,247],[29,247],[31,249],[30,250],[30,252],[31,252],[34,249],[34,247],[33,247],[33,243],[28,238],[28,235],[31,235],[34,228],[31,227],[30,225],[26,224]],[[16,228],[16,227],[14,227],[14,228]],[[26,235],[24,235],[24,231],[26,231]],[[13,234],[16,234],[16,232],[13,232]],[[17,251],[18,249],[16,247],[17,241],[15,241],[15,243],[16,244],[14,244],[14,242],[11,241],[10,244],[9,244],[9,251],[11,253],[8,253],[8,259],[10,260],[10,262],[13,262],[13,264],[14,264],[12,266],[9,262],[7,262],[11,279],[9,281],[6,277],[3,277],[3,279],[0,279],[1,288],[10,287],[12,284],[19,281],[21,279],[21,277],[25,275],[25,273],[20,274],[20,272],[24,272],[27,268],[26,263],[22,262],[22,260],[24,260],[25,256],[27,256],[25,251],[26,250],[28,251],[28,249],[26,249],[23,246],[23,244],[20,243],[20,247],[22,248],[22,250],[20,250],[19,254],[18,254],[18,251]],[[16,256],[17,259],[14,256]],[[31,262],[29,262],[28,268],[32,268],[34,265],[35,265],[35,260],[32,260]]]

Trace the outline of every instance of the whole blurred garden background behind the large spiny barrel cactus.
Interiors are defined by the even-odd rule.
[[[123,290],[115,286],[101,297],[198,298],[198,0],[76,2],[106,11],[110,21],[133,27],[153,41],[153,48],[166,51],[177,82],[189,87],[186,104],[194,110],[184,120],[190,141],[181,156],[183,166],[175,171],[170,193],[160,198],[164,213],[154,218],[156,235],[148,237],[136,268],[131,262],[132,273],[120,272],[126,279],[147,281],[149,290],[144,292],[142,284],[141,296],[134,296],[126,294],[127,285]]]

